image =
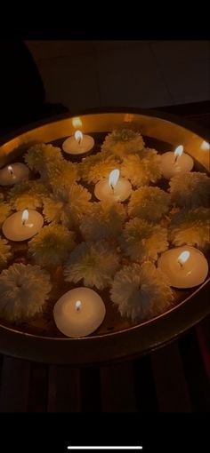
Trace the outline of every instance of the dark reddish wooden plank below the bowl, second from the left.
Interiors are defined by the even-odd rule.
[[[49,367],[48,412],[79,412],[80,371],[69,366]]]

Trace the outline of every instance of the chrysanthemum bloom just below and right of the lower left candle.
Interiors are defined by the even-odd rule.
[[[59,266],[74,249],[75,234],[62,225],[49,225],[28,242],[28,253],[40,266]]]

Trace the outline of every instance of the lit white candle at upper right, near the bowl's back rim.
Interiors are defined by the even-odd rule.
[[[186,172],[192,170],[194,165],[193,159],[190,155],[183,153],[183,147],[180,145],[174,153],[165,153],[161,155],[161,170],[164,178],[171,179],[179,172]]]

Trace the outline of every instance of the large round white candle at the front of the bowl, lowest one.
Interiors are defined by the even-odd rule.
[[[56,302],[53,316],[56,326],[67,337],[85,337],[98,329],[106,314],[97,292],[79,287],[63,294]]]

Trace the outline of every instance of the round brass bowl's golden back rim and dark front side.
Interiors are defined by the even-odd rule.
[[[75,117],[75,116],[74,116]],[[36,141],[52,142],[74,133],[73,116],[32,124],[0,141],[0,167],[17,159]],[[162,140],[176,147],[182,143],[199,171],[209,171],[209,142],[206,131],[173,115],[134,108],[103,109],[79,115],[84,132],[107,132],[117,127],[138,128],[144,136]],[[121,325],[119,330],[86,338],[51,338],[28,334],[0,324],[0,352],[46,363],[69,363],[72,366],[119,360],[147,354],[180,336],[210,313],[209,278],[172,309],[148,322]],[[0,296],[1,297],[1,296]]]

